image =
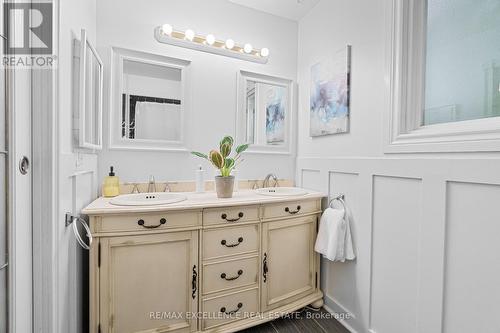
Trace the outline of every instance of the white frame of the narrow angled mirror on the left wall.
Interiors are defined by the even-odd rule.
[[[86,148],[86,149],[92,149],[92,150],[101,150],[102,149],[102,110],[103,110],[103,95],[104,95],[104,90],[103,90],[103,78],[104,78],[104,66],[102,63],[102,59],[97,53],[97,50],[95,47],[90,43],[90,41],[87,38],[87,31],[85,29],[81,30],[81,38],[80,42],[76,43],[75,45],[78,45],[79,50],[79,78],[78,78],[78,128],[76,129],[78,131],[78,146],[79,148]],[[97,140],[98,143],[92,143],[89,142],[86,138],[85,135],[85,127],[86,127],[86,120],[87,120],[87,115],[85,113],[85,107],[86,107],[86,96],[87,96],[87,91],[86,91],[86,73],[87,73],[87,46],[90,49],[90,52],[92,52],[93,56],[96,58],[97,62],[99,63],[99,96],[98,96],[98,110],[97,110],[97,117],[98,117],[98,125],[97,125]]]

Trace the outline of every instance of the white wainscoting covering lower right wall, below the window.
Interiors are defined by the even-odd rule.
[[[327,308],[359,333],[499,332],[497,170],[486,158],[298,158],[298,185],[344,193],[353,226],[356,260],[322,260]]]

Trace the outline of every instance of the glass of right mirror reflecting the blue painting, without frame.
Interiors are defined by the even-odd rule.
[[[246,142],[256,145],[283,145],[286,133],[287,88],[247,81]]]

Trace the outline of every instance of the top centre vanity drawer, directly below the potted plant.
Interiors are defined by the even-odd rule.
[[[226,207],[203,210],[203,225],[230,224],[258,220],[258,206]]]

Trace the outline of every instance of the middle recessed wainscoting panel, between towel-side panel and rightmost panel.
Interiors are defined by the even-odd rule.
[[[421,179],[373,177],[370,328],[374,332],[416,332],[421,211]]]

